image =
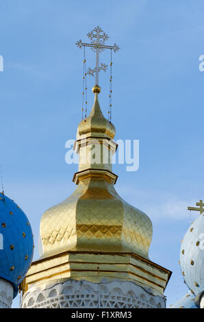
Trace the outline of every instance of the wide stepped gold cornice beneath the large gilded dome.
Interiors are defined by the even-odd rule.
[[[65,251],[33,262],[21,289],[25,292],[44,283],[68,279],[99,283],[106,278],[144,284],[163,294],[170,275],[164,267],[136,253]]]

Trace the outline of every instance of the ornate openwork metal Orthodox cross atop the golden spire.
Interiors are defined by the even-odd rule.
[[[81,39],[76,42],[77,47],[81,49],[81,47],[90,47],[92,51],[96,53],[96,66],[94,69],[88,69],[87,73],[88,75],[94,76],[95,73],[95,85],[99,85],[99,71],[107,70],[107,65],[101,63],[101,66],[99,66],[99,53],[104,51],[105,49],[112,49],[114,50],[114,53],[120,49],[116,44],[113,46],[107,46],[104,45],[105,41],[109,39],[109,36],[103,32],[103,30],[98,26],[92,30],[92,32],[89,32],[87,34],[88,38],[90,38],[91,43],[87,44],[85,42],[82,42]],[[95,38],[95,39],[94,39]]]

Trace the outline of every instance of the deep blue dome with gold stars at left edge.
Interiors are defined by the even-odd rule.
[[[14,297],[30,267],[34,238],[25,213],[0,193],[0,277],[14,286]]]

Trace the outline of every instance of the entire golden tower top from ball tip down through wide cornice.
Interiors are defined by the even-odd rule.
[[[33,262],[21,288],[45,288],[66,280],[133,281],[163,294],[170,271],[149,260],[152,223],[124,201],[114,188],[112,172],[115,127],[94,105],[79,123],[75,151],[79,171],[71,197],[44,212],[40,222],[43,254]]]

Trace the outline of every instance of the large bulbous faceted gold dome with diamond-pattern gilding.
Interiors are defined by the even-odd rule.
[[[148,258],[152,225],[112,184],[84,179],[71,197],[44,213],[40,234],[44,256],[71,249],[123,249]]]

